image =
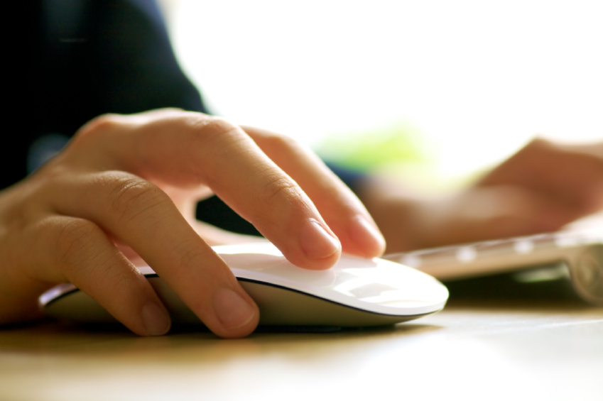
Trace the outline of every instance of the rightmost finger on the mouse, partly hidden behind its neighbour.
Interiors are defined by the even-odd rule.
[[[313,199],[343,251],[372,258],[385,250],[385,240],[354,193],[310,149],[292,138],[244,126],[246,133]]]

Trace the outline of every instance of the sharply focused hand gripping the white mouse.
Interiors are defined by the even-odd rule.
[[[36,319],[38,295],[72,282],[136,334],[164,334],[139,256],[215,334],[249,334],[256,304],[193,229],[211,192],[302,268],[384,250],[359,200],[286,137],[175,109],[101,116],[0,192],[0,323]]]

